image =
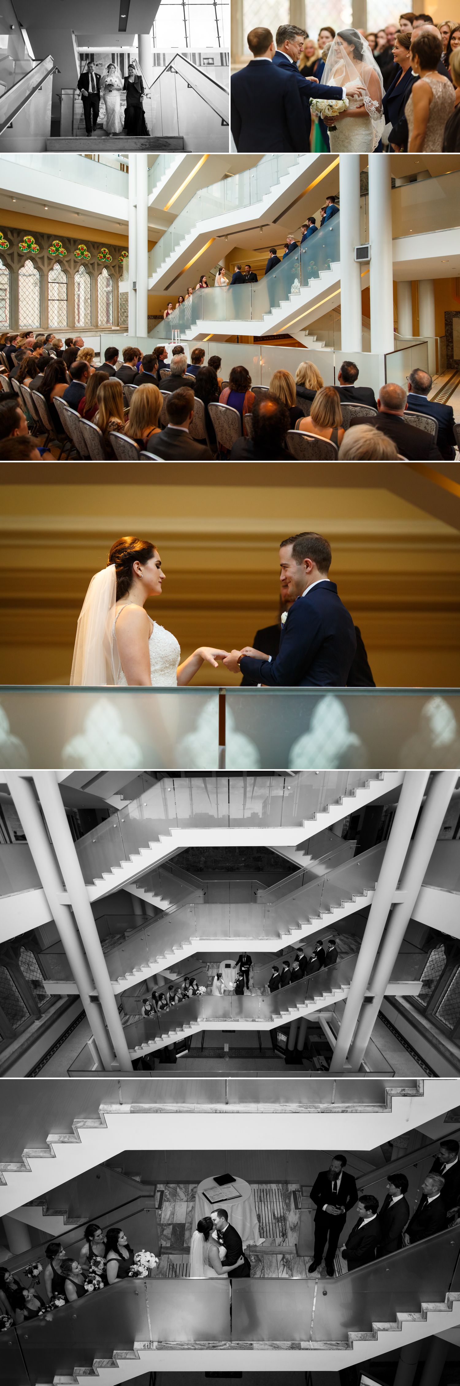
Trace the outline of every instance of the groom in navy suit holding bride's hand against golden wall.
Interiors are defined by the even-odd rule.
[[[252,683],[284,687],[345,686],[356,654],[352,617],[330,582],[331,549],[319,534],[298,534],[280,545],[281,582],[294,599],[269,661],[260,650],[231,650],[224,665]],[[297,599],[297,600],[295,600]]]

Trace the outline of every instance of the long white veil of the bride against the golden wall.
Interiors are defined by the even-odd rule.
[[[111,563],[91,578],[76,626],[71,683],[105,687],[118,683],[121,663],[114,638],[116,572]]]

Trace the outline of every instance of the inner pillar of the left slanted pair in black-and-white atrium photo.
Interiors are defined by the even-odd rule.
[[[87,897],[57,778],[53,771],[39,771],[33,779],[118,1063],[122,1073],[132,1073],[133,1064],[129,1058],[126,1035],[118,1015],[116,998],[108,976],[101,940],[97,933],[96,919]]]

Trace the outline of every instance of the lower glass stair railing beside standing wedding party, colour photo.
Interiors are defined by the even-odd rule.
[[[200,197],[198,193],[197,197]],[[339,262],[339,215],[337,215],[305,245],[298,245],[295,251],[291,251],[256,284],[198,288],[191,299],[188,298],[180,308],[175,308],[169,317],[159,323],[152,337],[170,341],[175,331],[183,337],[198,322],[206,324],[249,322],[251,319],[262,322],[266,313],[280,308],[283,302],[288,304],[290,310],[292,309],[295,313],[295,298],[301,295],[301,288],[319,281],[333,263]]]

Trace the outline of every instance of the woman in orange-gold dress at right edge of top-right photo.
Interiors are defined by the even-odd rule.
[[[445,125],[454,107],[454,91],[449,78],[441,76],[438,71],[441,54],[442,42],[436,32],[423,29],[413,36],[410,61],[420,82],[414,82],[406,103],[409,154],[442,151]]]

